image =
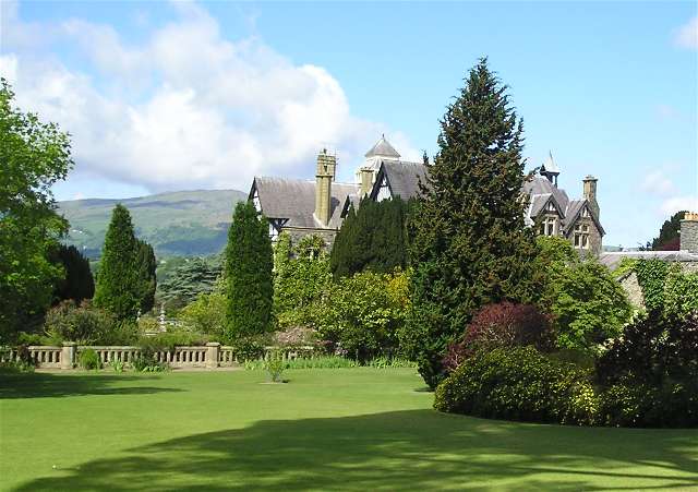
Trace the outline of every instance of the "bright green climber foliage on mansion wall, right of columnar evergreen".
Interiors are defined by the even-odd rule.
[[[274,310],[281,328],[303,325],[312,305],[329,284],[325,243],[317,236],[306,236],[294,248],[281,232],[274,248]]]

